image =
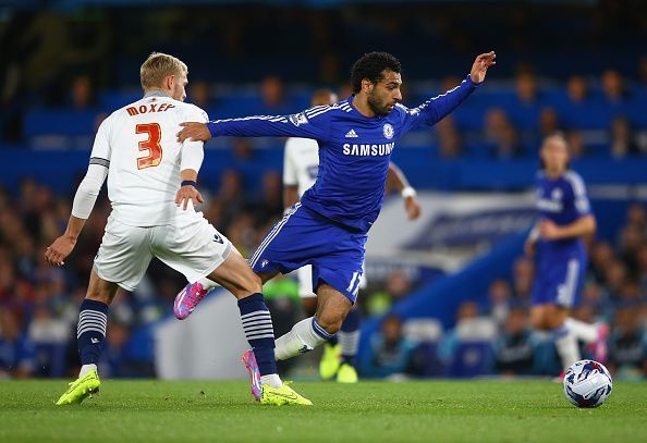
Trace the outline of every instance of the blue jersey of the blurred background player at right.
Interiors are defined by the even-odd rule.
[[[541,219],[551,220],[559,226],[571,224],[591,214],[586,187],[579,174],[566,171],[559,179],[549,179],[544,172],[537,174],[537,209]],[[566,253],[583,250],[582,239],[541,239],[540,253]]]

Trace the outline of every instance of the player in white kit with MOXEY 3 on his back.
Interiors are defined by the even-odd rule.
[[[46,250],[48,262],[64,264],[108,177],[112,212],[90,273],[77,327],[81,372],[57,405],[76,404],[96,393],[108,322],[108,306],[119,287],[133,291],[152,257],[182,272],[190,282],[209,278],[237,299],[246,358],[260,368],[263,387],[253,394],[264,404],[312,404],[283,384],[277,373],[271,317],[260,279],[227,237],[193,209],[203,201],[197,174],[202,141],[179,143],[180,123],[207,122],[199,108],[184,103],[186,65],[174,57],[151,53],[141,69],[144,98],[114,111],[101,123],[89,167],[76,190],[65,233]],[[254,392],[254,389],[259,392]]]

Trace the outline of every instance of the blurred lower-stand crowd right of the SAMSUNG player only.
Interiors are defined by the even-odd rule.
[[[590,261],[573,317],[607,323],[607,367],[623,380],[647,377],[647,213],[634,204],[614,243],[588,238]],[[442,331],[434,319],[402,322],[388,316],[371,337],[363,373],[371,377],[558,376],[553,337],[530,328],[535,266],[521,256],[512,281],[491,282],[485,304],[466,302],[456,324]],[[380,295],[378,295],[380,296]],[[371,303],[369,296],[367,303]],[[584,358],[591,353],[582,346]]]

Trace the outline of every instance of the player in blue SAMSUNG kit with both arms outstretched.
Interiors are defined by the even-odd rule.
[[[313,266],[317,312],[276,341],[278,360],[312,350],[339,331],[357,297],[367,233],[381,209],[395,143],[412,128],[431,126],[452,112],[485,81],[495,60],[493,51],[478,56],[459,86],[410,109],[400,104],[400,61],[386,52],[370,52],[353,65],[354,94],[346,100],[293,115],[182,124],[180,141],[279,136],[313,138],[319,145],[317,181],[249,259],[263,282]],[[186,293],[191,295],[198,284],[190,284]],[[244,329],[247,339],[259,333],[253,313]],[[249,350],[243,355],[243,362],[252,377],[252,393],[259,399],[266,369],[257,365]]]

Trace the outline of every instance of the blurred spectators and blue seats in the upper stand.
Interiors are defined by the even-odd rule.
[[[640,65],[647,71],[647,57]],[[403,102],[416,107],[461,81],[452,76],[432,86],[405,84]],[[251,90],[218,88],[192,77],[187,100],[217,119],[295,113],[307,108],[310,94],[310,88],[291,88],[274,75]],[[340,88],[340,97],[350,94],[347,85]],[[138,98],[137,93],[97,91],[88,76],[76,76],[64,103],[33,108],[22,115],[17,140],[37,149],[89,149],[102,119]],[[575,159],[645,156],[646,103],[647,83],[630,82],[615,70],[607,70],[599,77],[573,75],[562,83],[542,81],[530,67],[522,66],[513,79],[492,79],[432,130],[411,133],[401,147],[415,148],[430,159],[534,158],[541,139],[561,131]],[[256,143],[242,144],[252,149]],[[225,147],[231,146],[227,143]],[[280,140],[270,140],[269,146],[280,146]]]

